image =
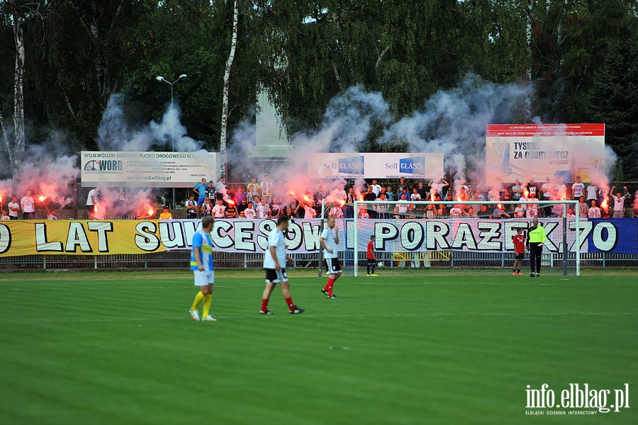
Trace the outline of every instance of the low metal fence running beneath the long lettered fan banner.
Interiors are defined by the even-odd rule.
[[[365,252],[359,253],[359,266],[365,264]],[[118,269],[118,268],[180,268],[190,264],[190,251],[164,251],[154,254],[118,254],[105,256],[65,256],[33,255],[0,257],[0,270],[81,270],[81,269]],[[354,266],[354,252],[341,253],[346,268]],[[317,268],[318,254],[292,254],[298,268]],[[514,254],[482,253],[466,251],[428,251],[424,253],[377,252],[377,261],[383,261],[386,267],[407,267],[423,264],[437,268],[509,268]],[[561,267],[563,254],[547,253],[543,260],[547,265]],[[216,252],[216,268],[262,268],[264,255],[260,253]],[[573,264],[574,254],[569,253],[568,262]],[[418,263],[418,264],[416,264]],[[583,268],[638,267],[638,254],[607,254],[605,252],[581,254]]]

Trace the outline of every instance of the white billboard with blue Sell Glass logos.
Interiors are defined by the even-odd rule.
[[[443,154],[314,154],[308,159],[310,179],[440,179],[442,175]]]

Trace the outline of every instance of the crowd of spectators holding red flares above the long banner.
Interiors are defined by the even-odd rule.
[[[522,183],[518,179],[513,183],[503,183],[500,180],[491,186],[486,183],[457,184],[452,187],[445,179],[433,181],[357,181],[345,185],[343,182],[315,181],[301,193],[294,193],[287,189],[281,181],[271,181],[265,175],[262,181],[257,177],[249,183],[233,183],[225,185],[223,178],[217,182],[201,182],[191,188],[189,199],[185,202],[186,218],[199,218],[211,215],[216,218],[245,218],[276,219],[280,215],[287,215],[291,220],[295,218],[315,218],[321,216],[322,201],[325,201],[325,215],[335,218],[354,217],[354,201],[389,201],[391,203],[376,205],[359,205],[359,218],[447,218],[447,217],[475,217],[475,218],[517,218],[532,219],[534,217],[566,217],[573,218],[578,214],[581,218],[611,218],[638,217],[638,210],[629,206],[627,201],[631,195],[627,186],[616,190],[604,191],[595,184],[581,183],[580,176],[570,185],[562,182],[553,183],[549,177],[544,183],[537,183],[533,179]],[[578,200],[576,208],[565,210],[564,204],[538,205],[535,200]],[[408,201],[434,201],[430,205],[413,205]],[[454,205],[457,200],[461,204]],[[464,204],[476,201],[481,204]],[[520,201],[520,204],[510,205],[502,201]],[[529,201],[532,203],[525,203]],[[121,205],[129,205],[128,189],[125,186],[120,191]],[[630,204],[630,203],[629,203]],[[49,210],[46,203],[47,218],[57,220],[55,210]],[[4,206],[4,205],[3,205]],[[89,191],[86,200],[89,218],[104,220],[106,205],[101,205],[99,189]],[[131,208],[136,208],[131,205]],[[139,218],[144,215],[131,212],[126,217]],[[146,216],[148,217],[148,215]],[[160,215],[160,220],[170,220],[174,216],[169,212],[168,205]],[[177,216],[179,217],[179,215]],[[183,216],[182,216],[183,217]],[[12,196],[6,209],[2,208],[0,220],[17,220],[35,218],[35,200],[31,191],[27,191],[18,203],[18,197]]]

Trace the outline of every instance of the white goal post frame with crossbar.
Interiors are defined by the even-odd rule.
[[[543,205],[563,205],[563,217],[567,216],[567,207],[568,205],[573,205],[573,210],[575,212],[575,223],[576,223],[576,276],[581,276],[581,223],[580,223],[580,214],[578,211],[578,200],[534,200],[534,201],[516,201],[516,200],[505,200],[505,201],[482,201],[482,200],[405,200],[403,202],[397,200],[356,200],[354,201],[354,277],[359,276],[359,209],[361,205],[397,205],[398,203],[405,203],[407,205],[537,205],[538,207],[542,207]],[[426,219],[427,220],[427,219]],[[461,217],[462,220],[462,217]],[[505,219],[508,220],[508,219]],[[525,220],[530,220],[526,218]],[[564,229],[564,234],[566,234],[567,229]],[[567,251],[567,247],[564,246],[564,251]]]

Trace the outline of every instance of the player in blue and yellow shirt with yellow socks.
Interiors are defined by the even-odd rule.
[[[199,304],[203,300],[203,322],[216,322],[211,314],[211,300],[213,297],[213,283],[215,283],[215,271],[213,269],[213,239],[211,231],[215,219],[207,216],[201,219],[201,229],[193,237],[193,248],[191,249],[191,270],[195,275],[195,286],[199,287],[199,292],[195,295],[193,307],[189,310],[191,317],[199,320]]]

